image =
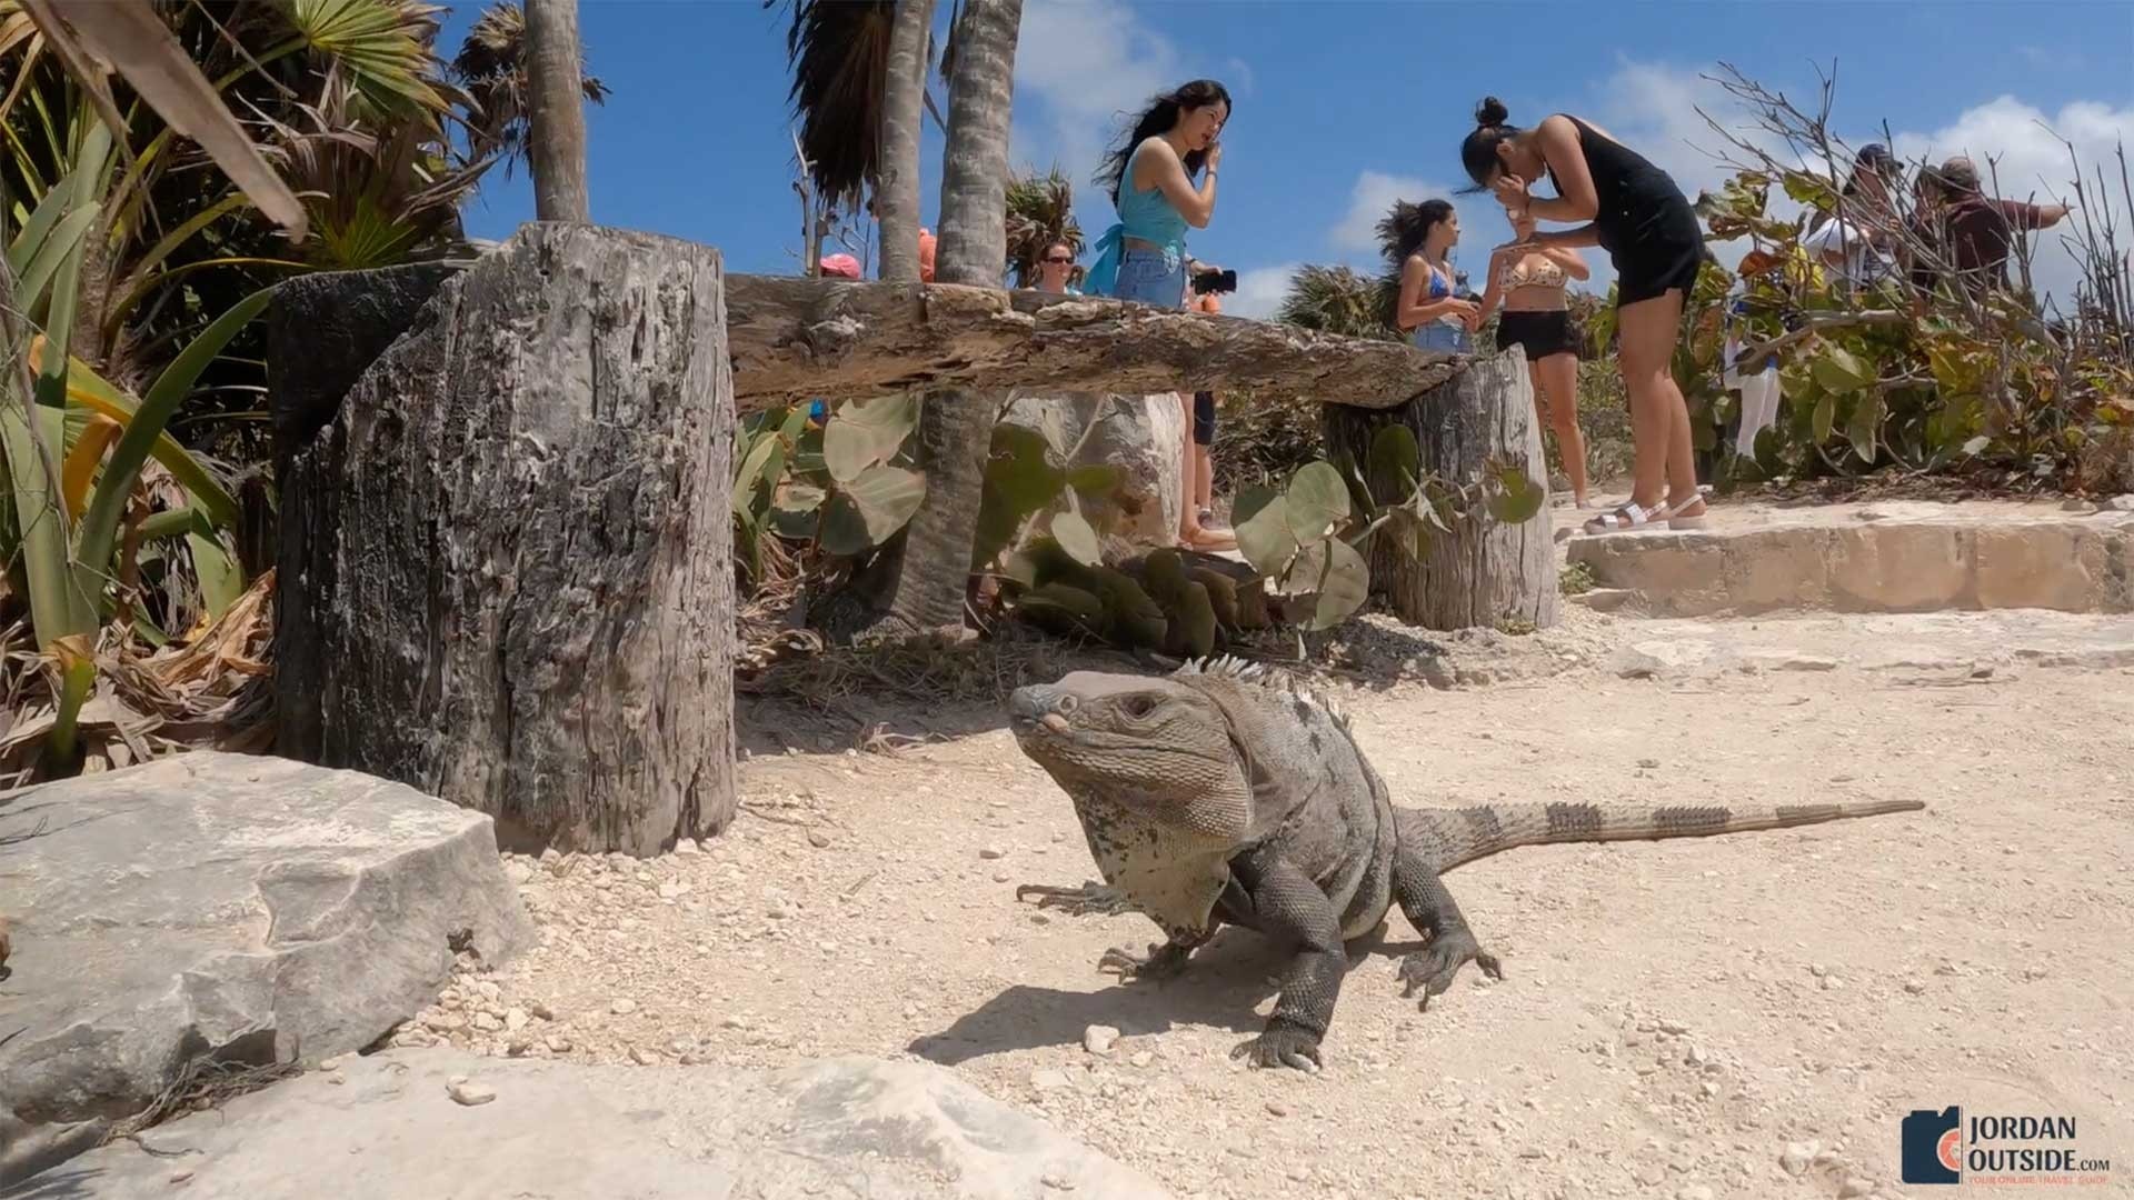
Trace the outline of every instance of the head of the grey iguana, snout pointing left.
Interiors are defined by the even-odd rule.
[[[1022,754],[1080,799],[1214,843],[1253,824],[1253,788],[1231,722],[1201,677],[1076,670],[1016,688],[1009,728]]]

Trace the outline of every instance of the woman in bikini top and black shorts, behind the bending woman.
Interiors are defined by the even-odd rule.
[[[1532,218],[1511,211],[1515,241],[1534,233]],[[1504,316],[1496,320],[1496,348],[1519,346],[1534,367],[1534,410],[1556,429],[1556,448],[1571,478],[1571,500],[1586,508],[1586,433],[1579,431],[1579,354],[1571,331],[1571,307],[1564,288],[1571,280],[1588,280],[1586,258],[1566,246],[1547,250],[1498,250],[1490,256],[1490,286],[1481,307],[1468,318],[1468,329],[1481,329],[1498,301]]]

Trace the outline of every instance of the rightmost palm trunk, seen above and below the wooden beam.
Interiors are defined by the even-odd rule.
[[[1016,88],[1022,0],[965,0],[947,92],[941,160],[941,248],[935,280],[1001,286],[1007,263],[1007,130]],[[879,216],[879,214],[877,214]],[[913,235],[913,250],[918,237]],[[883,241],[883,254],[890,252]],[[915,275],[915,271],[913,271]],[[879,617],[869,636],[962,630],[971,542],[986,483],[1001,391],[928,393],[918,459],[926,500],[903,532],[854,581]],[[843,613],[826,611],[832,632]]]

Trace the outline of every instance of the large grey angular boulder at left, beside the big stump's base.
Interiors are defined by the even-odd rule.
[[[455,950],[531,935],[487,816],[354,771],[181,754],[0,796],[0,1185],[201,1061],[371,1044]]]

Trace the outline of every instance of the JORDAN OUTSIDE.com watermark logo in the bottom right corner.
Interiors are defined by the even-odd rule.
[[[2074,1117],[1972,1117],[1914,1108],[1901,1127],[1904,1183],[2100,1185],[2111,1162],[2076,1149]]]

